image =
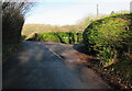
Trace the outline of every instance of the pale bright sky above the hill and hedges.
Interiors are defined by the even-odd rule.
[[[130,10],[132,0],[37,0],[25,23],[70,25],[88,15],[110,14],[111,11]]]

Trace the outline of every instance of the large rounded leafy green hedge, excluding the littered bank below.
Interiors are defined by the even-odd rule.
[[[84,32],[84,43],[107,67],[132,54],[132,14],[114,14],[94,21]]]

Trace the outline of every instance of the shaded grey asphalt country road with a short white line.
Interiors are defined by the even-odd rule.
[[[3,89],[110,89],[72,45],[23,42],[3,64]]]

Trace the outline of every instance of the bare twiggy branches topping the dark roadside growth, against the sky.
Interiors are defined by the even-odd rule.
[[[25,15],[30,9],[33,7],[34,2],[32,0],[3,0],[2,11],[3,14],[9,13]]]

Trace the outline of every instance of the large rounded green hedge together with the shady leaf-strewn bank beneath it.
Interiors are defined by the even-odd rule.
[[[117,83],[125,84],[123,88],[132,88],[132,14],[112,13],[96,20],[82,37],[87,52],[97,57],[91,62],[117,78]]]

